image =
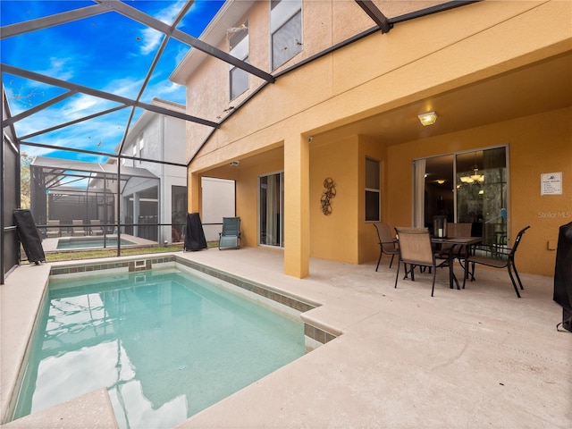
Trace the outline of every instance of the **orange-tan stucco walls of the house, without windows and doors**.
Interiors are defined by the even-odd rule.
[[[265,71],[267,3],[257,2],[241,19],[249,22],[251,63]],[[412,5],[419,9],[427,2],[375,4],[393,11]],[[304,2],[303,13],[304,49],[286,67],[372,25],[355,2]],[[399,13],[404,12],[386,14]],[[376,32],[283,74],[209,139],[210,130],[189,124],[189,211],[200,210],[200,175],[236,180],[244,244],[257,246],[257,176],[283,171],[284,272],[305,277],[309,257],[352,264],[377,257],[374,230],[364,221],[366,156],[381,161],[383,221],[408,226],[412,160],[506,145],[509,240],[531,225],[517,265],[522,272],[551,275],[555,251],[548,249],[548,241],[556,240],[559,225],[572,221],[572,107],[569,97],[564,102],[559,98],[570,91],[570,16],[569,1],[485,1],[396,24],[387,34]],[[351,22],[352,34],[341,25],[344,20]],[[564,64],[568,80],[564,76],[554,94],[547,90],[533,97],[527,93],[530,80],[518,79],[530,79],[533,66],[551,63],[558,63],[559,70]],[[215,119],[229,108],[223,84],[197,89],[207,78],[224,82],[227,75],[227,64],[208,59],[187,78],[189,114],[208,106]],[[498,97],[506,88],[501,84],[505,76],[522,86],[508,99]],[[251,77],[250,91],[231,105],[259,83]],[[500,114],[489,114],[489,99],[506,103]],[[436,127],[442,128],[422,130],[416,114],[432,109],[440,114]],[[452,118],[465,110],[448,123],[448,113]],[[240,165],[229,166],[233,160]],[[562,172],[562,195],[540,195],[544,172]],[[329,216],[320,210],[326,177],[337,189]]]

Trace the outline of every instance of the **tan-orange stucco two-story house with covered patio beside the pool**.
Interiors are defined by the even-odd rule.
[[[310,257],[374,260],[374,221],[435,214],[500,245],[531,225],[517,265],[552,275],[572,220],[572,3],[364,3],[383,32],[357,2],[223,5],[201,39],[276,79],[196,49],[172,73],[189,114],[223,120],[187,127],[190,210],[202,177],[236,181],[242,244],[283,248],[296,277]]]

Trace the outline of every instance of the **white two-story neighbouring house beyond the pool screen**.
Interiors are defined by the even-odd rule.
[[[184,105],[158,98],[153,104],[185,111]],[[150,111],[141,114],[122,147],[122,155],[129,156],[121,158],[122,166],[145,169],[156,179],[127,181],[122,189],[125,232],[160,244],[182,240],[187,214],[187,169],[181,167],[184,153],[184,121]],[[153,162],[157,159],[164,162]],[[206,239],[218,240],[223,216],[234,215],[234,181],[203,177],[201,182]],[[162,226],[157,228],[157,223]]]

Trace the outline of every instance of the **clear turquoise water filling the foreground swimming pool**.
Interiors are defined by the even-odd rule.
[[[301,322],[142,273],[50,282],[14,418],[106,387],[120,427],[169,428],[305,353]]]

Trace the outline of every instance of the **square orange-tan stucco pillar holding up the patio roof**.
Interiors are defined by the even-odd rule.
[[[310,273],[310,145],[299,133],[284,140],[284,273]]]

